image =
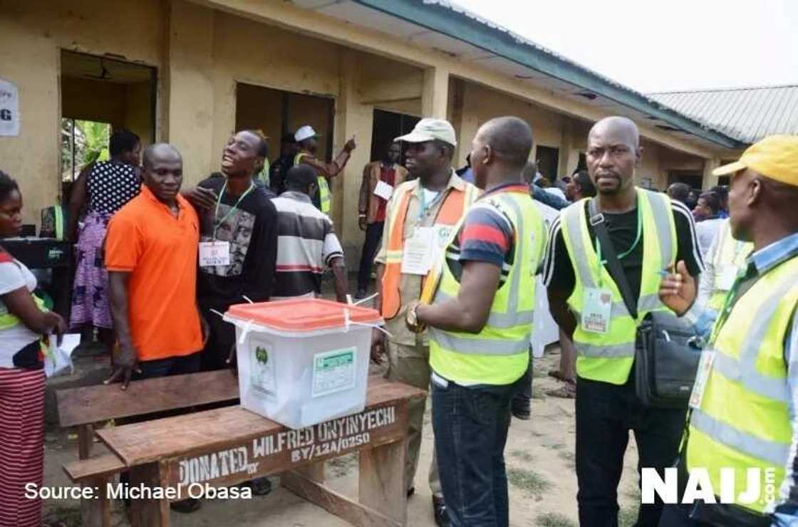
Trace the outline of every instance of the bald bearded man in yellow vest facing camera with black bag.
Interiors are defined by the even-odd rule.
[[[634,341],[658,298],[662,269],[684,260],[703,269],[693,215],[666,195],[635,187],[642,159],[637,126],[607,117],[587,136],[587,171],[595,199],[560,211],[551,226],[543,281],[551,314],[576,352],[576,475],[581,525],[617,525],[618,481],[634,431],[640,467],[662,472],[678,453],[685,410],[643,407],[634,389]],[[605,227],[619,262],[606,264]],[[618,284],[626,281],[624,298]],[[642,505],[638,525],[654,526],[662,503]]]

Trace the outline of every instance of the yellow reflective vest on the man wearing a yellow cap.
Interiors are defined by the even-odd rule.
[[[768,271],[719,319],[707,352],[714,352],[703,395],[690,415],[687,468],[704,468],[716,495],[721,468],[734,470],[735,499],[747,486],[749,468],[761,470],[760,500],[739,503],[763,513],[764,471],[778,498],[792,442],[792,399],[784,339],[798,306],[798,257]]]

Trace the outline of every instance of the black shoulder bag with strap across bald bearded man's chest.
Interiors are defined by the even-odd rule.
[[[632,318],[638,317],[626,274],[606,230],[603,214],[590,200],[591,226],[599,238],[610,275],[615,278],[623,303]],[[641,403],[652,408],[686,408],[693,390],[701,350],[690,344],[693,329],[670,311],[648,313],[638,325],[634,343],[634,386]]]

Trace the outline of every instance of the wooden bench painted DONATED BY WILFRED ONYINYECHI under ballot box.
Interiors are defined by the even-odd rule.
[[[352,525],[401,527],[406,523],[404,480],[409,400],[425,392],[381,376],[369,378],[366,407],[358,414],[291,430],[242,407],[223,407],[97,431],[116,455],[65,465],[73,482],[99,487],[89,501],[91,521],[109,525],[102,481],[130,471],[131,487],[172,489],[171,501],[281,474],[282,486]],[[358,500],[323,485],[324,462],[359,453]],[[178,494],[179,493],[179,494]],[[170,525],[168,497],[132,501],[132,525]]]

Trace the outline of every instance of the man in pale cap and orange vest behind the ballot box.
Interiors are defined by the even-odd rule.
[[[442,250],[449,234],[479,191],[452,170],[457,144],[452,124],[442,119],[422,119],[405,136],[406,167],[413,178],[396,187],[385,209],[385,230],[377,263],[377,306],[385,319],[388,339],[374,331],[373,360],[379,362],[387,344],[388,378],[426,390],[429,387],[429,340],[426,332],[411,332],[405,325],[408,305],[417,301],[428,280],[433,256]],[[387,340],[387,341],[386,341]],[[408,408],[408,448],[405,485],[413,494],[418,466],[425,401]],[[437,525],[448,525],[440,490],[437,463],[429,469],[433,512]]]

